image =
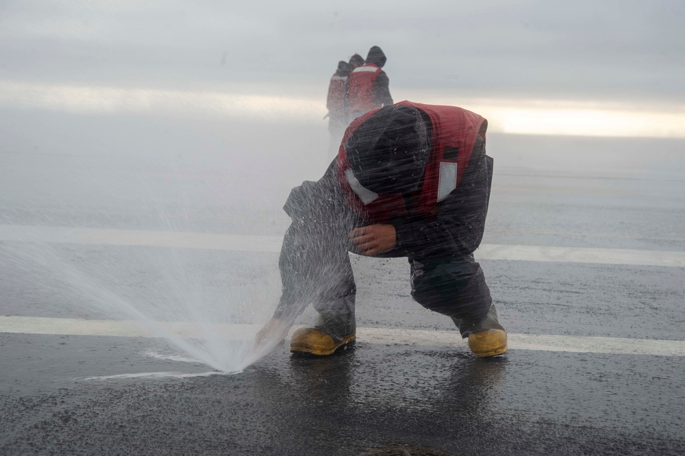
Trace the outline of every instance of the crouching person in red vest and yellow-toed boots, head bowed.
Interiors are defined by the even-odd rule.
[[[282,340],[310,303],[319,319],[295,331],[290,351],[330,355],[356,338],[348,251],[407,257],[412,297],[449,316],[475,356],[507,351],[482,268],[493,159],[487,121],[459,107],[401,101],[356,118],[337,160],[290,192],[292,218],[279,259],[282,296],[258,333]]]

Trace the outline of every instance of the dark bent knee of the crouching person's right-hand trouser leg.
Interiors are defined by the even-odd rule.
[[[415,271],[412,297],[426,309],[470,323],[486,318],[493,303],[477,263],[439,264]]]

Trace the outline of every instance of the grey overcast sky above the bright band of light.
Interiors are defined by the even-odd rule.
[[[425,90],[682,114],[684,24],[682,0],[4,0],[0,101],[26,84],[323,99],[338,60],[378,45],[398,101]]]

